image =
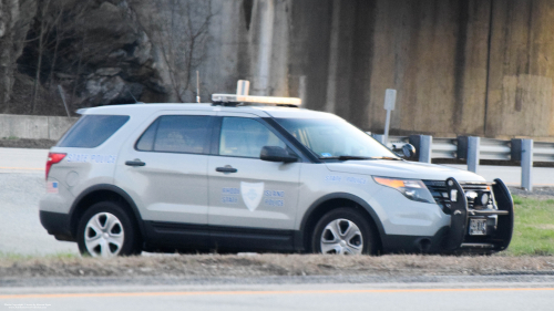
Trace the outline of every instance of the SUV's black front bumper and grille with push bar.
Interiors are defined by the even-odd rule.
[[[475,208],[474,201],[466,198],[474,191],[476,184],[460,185],[454,178],[447,182],[428,182],[430,190],[443,211],[450,215],[450,225],[440,228],[433,236],[398,236],[388,235],[382,238],[383,252],[491,252],[507,248],[512,240],[514,226],[513,201],[510,190],[500,179],[491,185],[492,208]],[[437,186],[441,184],[441,186]],[[479,185],[488,187],[489,185]],[[490,187],[490,186],[489,186]],[[445,197],[445,194],[449,197]],[[455,197],[453,197],[453,195]],[[495,205],[494,205],[495,201]],[[486,222],[485,235],[470,235],[471,219],[483,219]]]

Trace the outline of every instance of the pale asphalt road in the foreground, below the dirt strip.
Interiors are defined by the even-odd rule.
[[[22,288],[0,308],[43,310],[552,310],[554,283]],[[19,307],[19,308],[18,308]]]

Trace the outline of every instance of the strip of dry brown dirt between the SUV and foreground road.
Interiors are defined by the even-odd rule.
[[[554,274],[554,257],[175,255],[0,260],[2,278]]]

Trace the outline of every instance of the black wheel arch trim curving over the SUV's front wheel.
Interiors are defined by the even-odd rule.
[[[377,230],[379,231],[379,239],[380,243],[382,245],[382,239],[384,237],[384,228],[382,226],[381,219],[377,216],[377,212],[373,210],[373,208],[363,199],[360,197],[357,197],[355,195],[348,194],[348,193],[335,193],[335,194],[328,194],[316,201],[314,201],[310,207],[306,210],[304,214],[302,220],[300,222],[300,231],[298,232],[297,237],[295,238],[295,247],[297,249],[304,248],[304,230],[306,229],[306,224],[308,219],[311,217],[311,214],[315,211],[315,209],[320,206],[322,203],[331,200],[331,199],[348,199],[351,200],[359,206],[361,206],[369,214],[369,216],[372,218],[373,222],[377,226]]]

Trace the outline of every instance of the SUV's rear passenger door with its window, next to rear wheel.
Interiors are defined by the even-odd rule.
[[[207,242],[213,122],[213,112],[160,112],[123,146],[115,183],[131,195],[154,234],[197,232]],[[196,242],[202,241],[189,241]]]

